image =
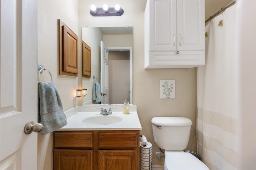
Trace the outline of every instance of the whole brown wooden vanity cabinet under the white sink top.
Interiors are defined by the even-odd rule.
[[[55,131],[54,170],[139,170],[139,131]]]

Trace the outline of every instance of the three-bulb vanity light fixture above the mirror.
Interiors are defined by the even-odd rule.
[[[104,4],[102,8],[96,8],[95,5],[92,5],[90,14],[92,16],[121,16],[124,14],[124,10],[118,4],[115,7],[108,7],[107,4]]]

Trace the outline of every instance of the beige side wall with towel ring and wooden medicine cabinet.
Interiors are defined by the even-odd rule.
[[[74,107],[73,94],[78,88],[78,77],[58,75],[58,19],[78,35],[78,1],[38,1],[38,64],[50,70],[66,111]],[[40,80],[50,81],[48,72],[44,72]],[[51,135],[38,133],[38,170],[52,169]]]

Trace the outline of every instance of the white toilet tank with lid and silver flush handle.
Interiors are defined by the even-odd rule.
[[[192,121],[186,117],[153,117],[156,145],[164,150],[184,150],[188,146]]]

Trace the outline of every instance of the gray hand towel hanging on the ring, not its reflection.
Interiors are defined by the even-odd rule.
[[[53,132],[68,124],[60,95],[54,82],[38,83],[38,121],[44,125],[42,135]],[[40,119],[39,119],[40,117]]]

